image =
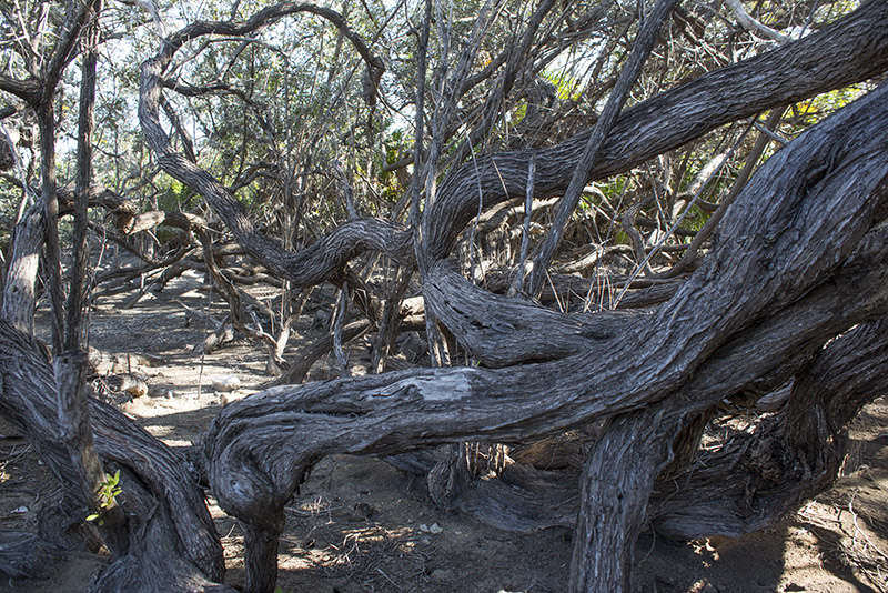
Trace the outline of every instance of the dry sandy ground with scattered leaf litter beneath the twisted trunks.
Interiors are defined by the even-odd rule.
[[[161,299],[148,295],[120,309],[125,296],[101,299],[92,344],[111,352],[148,352],[165,364],[142,369],[154,393],[123,404],[172,446],[196,441],[219,410],[210,386],[235,374],[246,386],[264,374],[261,348],[238,342],[205,358],[193,354],[206,328],[185,322],[185,306],[208,306],[200,279],[183,278]],[[329,306],[329,305],[326,305]],[[303,331],[312,330],[306,311]],[[292,343],[305,343],[295,335]],[[249,393],[241,391],[241,395]],[[21,529],[52,495],[52,481],[27,443],[0,426],[0,529]],[[888,401],[869,405],[855,424],[844,478],[774,529],[740,540],[687,544],[643,536],[636,590],[644,592],[888,592]],[[313,471],[287,507],[280,547],[285,592],[561,592],[566,590],[571,532],[515,535],[472,517],[442,513],[421,484],[376,459],[334,456]],[[213,506],[225,546],[228,582],[242,583],[241,530]],[[0,580],[0,592],[78,593],[105,561],[71,553],[41,581]]]

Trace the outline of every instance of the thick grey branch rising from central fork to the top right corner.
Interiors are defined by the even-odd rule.
[[[627,171],[710,130],[888,70],[888,4],[869,2],[801,40],[706,73],[626,110],[612,129],[588,180]],[[446,257],[477,212],[524,195],[527,163],[536,159],[535,198],[567,189],[591,130],[552,148],[478,157],[437,191],[428,253]]]

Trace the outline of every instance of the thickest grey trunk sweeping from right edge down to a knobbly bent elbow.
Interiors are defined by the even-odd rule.
[[[720,375],[699,372],[720,346],[743,336],[753,320],[760,318],[769,329],[769,312],[800,306],[818,295],[811,292],[818,284],[844,296],[823,283],[886,212],[887,109],[884,84],[773,157],[731,205],[718,244],[677,294],[653,315],[626,320],[616,338],[593,342],[582,354],[503,371],[420,370],[278,388],[228,406],[204,440],[220,504],[261,525],[292,496],[309,468],[332,452],[392,454],[462,440],[527,439],[644,405],[656,409],[657,402],[668,402],[660,403],[667,413],[685,414],[720,401],[719,385],[705,383]],[[859,271],[854,259],[850,264]],[[874,310],[884,311],[878,282],[875,292],[846,303],[840,315],[835,309],[826,319],[795,315],[793,332],[815,349]],[[786,356],[795,360],[798,353]],[[770,370],[786,360],[769,355]],[[731,371],[743,385],[761,376],[754,374],[759,369]],[[539,379],[547,376],[562,380]],[[692,376],[704,384],[667,398]],[[636,485],[648,483],[653,476]],[[639,524],[637,517],[623,521],[624,527]],[[577,554],[594,555],[583,549],[588,545],[595,544],[578,544]],[[266,579],[256,575],[254,582]]]

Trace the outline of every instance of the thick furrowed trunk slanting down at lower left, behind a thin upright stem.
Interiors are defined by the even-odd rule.
[[[85,517],[80,476],[60,439],[56,381],[46,349],[4,320],[0,320],[0,412],[21,428],[50,471],[80,502]],[[105,464],[132,472],[132,478],[121,479],[129,553],[112,565],[115,571],[129,567],[102,581],[97,591],[231,591],[210,583],[222,579],[222,546],[184,458],[108,404],[90,400],[90,415],[99,456]],[[152,557],[153,569],[148,562]],[[189,589],[182,583],[203,584]]]

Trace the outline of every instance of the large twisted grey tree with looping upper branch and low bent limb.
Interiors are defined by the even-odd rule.
[[[196,23],[171,36],[142,66],[140,121],[149,144],[168,173],[208,199],[253,258],[294,285],[330,278],[369,249],[414,264],[407,228],[367,219],[345,223],[297,253],[286,252],[252,225],[221,183],[173,151],[160,125],[159,105],[164,71],[178,49],[203,34],[248,34],[281,14],[265,12],[243,23]],[[616,121],[589,179],[625,171],[717,125],[884,71],[885,22],[888,2],[869,2],[803,40],[636,105]],[[562,194],[587,134],[553,148],[481,157],[457,168],[426,212],[435,223],[423,238],[426,306],[478,360],[506,368],[420,370],[278,388],[223,410],[204,439],[203,454],[220,504],[246,526],[246,590],[273,589],[283,505],[312,464],[334,452],[393,454],[463,440],[522,440],[644,409],[648,419],[666,419],[649,426],[656,438],[633,440],[629,431],[620,433],[619,426],[638,422],[634,416],[626,416],[628,424],[609,424],[596,454],[602,458],[587,465],[585,492],[595,500],[646,500],[669,459],[670,429],[678,430],[685,418],[699,418],[724,396],[724,384],[707,382],[725,370],[718,356],[729,356],[741,344],[746,352],[770,349],[770,358],[730,369],[733,389],[740,391],[795,368],[800,353],[813,353],[854,324],[885,314],[880,285],[866,284],[866,292],[849,295],[829,285],[829,278],[840,272],[864,285],[868,273],[884,273],[884,262],[871,271],[844,262],[851,261],[861,238],[884,218],[888,124],[874,114],[886,110],[886,89],[880,88],[780,151],[731,205],[720,242],[702,268],[668,302],[642,315],[582,318],[527,303],[506,305],[471,288],[443,261],[477,210],[478,189],[484,208],[524,195],[533,159],[536,197]],[[872,238],[867,249],[884,239]],[[864,250],[860,258],[875,255]],[[840,306],[841,314],[811,314],[823,300]],[[784,313],[798,315],[790,318],[793,331],[804,340],[786,333]],[[541,328],[547,344],[534,346]],[[786,350],[787,343],[795,349]],[[508,366],[539,360],[551,362]],[[557,384],[552,376],[559,378]],[[628,443],[630,455],[614,453],[624,450],[619,443]],[[593,480],[609,455],[627,471],[635,468],[638,480],[612,490]],[[594,565],[589,559],[616,575],[614,586],[625,585],[626,554],[643,524],[643,507],[615,509],[606,529],[616,547],[607,547],[607,537],[577,539],[575,557],[586,559],[586,566],[575,566],[575,589],[605,586],[588,577]],[[595,505],[586,501],[583,509],[581,525],[597,525]]]

